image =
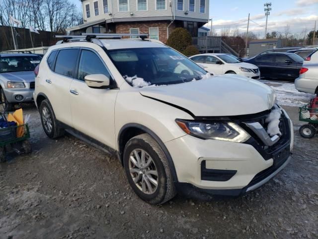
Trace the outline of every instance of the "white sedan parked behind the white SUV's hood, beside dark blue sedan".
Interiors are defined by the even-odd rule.
[[[259,79],[258,67],[240,62],[234,57],[223,53],[205,53],[189,57],[195,63],[204,67],[208,72],[220,74],[238,74],[252,79]]]

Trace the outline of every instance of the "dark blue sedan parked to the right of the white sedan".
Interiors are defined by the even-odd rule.
[[[255,56],[246,63],[257,66],[261,77],[295,80],[303,65],[303,58],[294,53],[267,53]]]

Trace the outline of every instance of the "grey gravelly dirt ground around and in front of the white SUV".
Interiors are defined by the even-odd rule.
[[[46,137],[26,106],[33,153],[0,164],[1,239],[318,238],[318,136],[300,137],[298,109],[291,163],[239,198],[210,202],[176,196],[161,206],[141,201],[119,161],[73,136]]]

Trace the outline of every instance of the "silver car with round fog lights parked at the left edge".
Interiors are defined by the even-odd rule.
[[[0,54],[0,101],[5,111],[12,111],[17,103],[33,101],[33,71],[40,61],[34,54]]]

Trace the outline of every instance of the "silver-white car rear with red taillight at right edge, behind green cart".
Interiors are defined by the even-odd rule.
[[[299,78],[295,80],[298,91],[318,95],[318,63],[304,64]]]

